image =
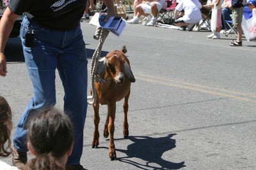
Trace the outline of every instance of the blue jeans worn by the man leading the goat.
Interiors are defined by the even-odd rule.
[[[33,47],[24,45],[28,29],[35,32]],[[28,152],[28,122],[38,110],[56,104],[56,68],[65,91],[64,111],[74,127],[74,148],[67,164],[80,164],[83,152],[83,129],[87,110],[87,64],[85,43],[80,25],[69,31],[50,31],[24,17],[20,39],[26,66],[32,81],[33,97],[17,124],[13,145],[19,152]]]

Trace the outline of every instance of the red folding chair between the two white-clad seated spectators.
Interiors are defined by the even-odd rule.
[[[157,22],[163,24],[173,24],[176,0],[165,0],[165,3],[166,4],[164,4],[163,9],[157,14]]]

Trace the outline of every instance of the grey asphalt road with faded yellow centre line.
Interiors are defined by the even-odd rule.
[[[98,41],[96,27],[81,23],[88,69]],[[256,43],[234,34],[207,39],[211,32],[186,32],[127,25],[120,38],[109,34],[102,55],[127,46],[136,77],[129,99],[129,139],[122,136],[122,101],[116,106],[117,160],[103,137],[106,106],[100,106],[100,145],[92,148],[93,109],[88,106],[81,164],[86,169],[256,169]],[[32,96],[19,38],[6,46],[8,74],[0,95],[13,109],[13,131]],[[88,87],[88,91],[90,86]],[[57,108],[63,89],[56,78]],[[88,93],[89,94],[89,93]],[[2,160],[2,159],[1,159]],[[10,158],[3,159],[10,163]]]

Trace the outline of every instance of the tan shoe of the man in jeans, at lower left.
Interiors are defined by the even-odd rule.
[[[24,169],[24,166],[28,161],[27,152],[19,152],[14,147],[12,147],[12,150],[12,166]]]

